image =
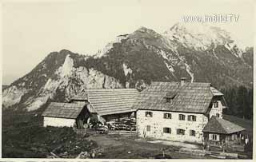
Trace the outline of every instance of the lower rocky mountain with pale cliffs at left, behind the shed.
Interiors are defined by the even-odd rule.
[[[74,57],[80,56],[67,50],[50,53],[30,73],[3,91],[3,105],[34,110],[46,103],[48,98],[68,101],[82,89],[122,88],[114,77],[76,65]]]

